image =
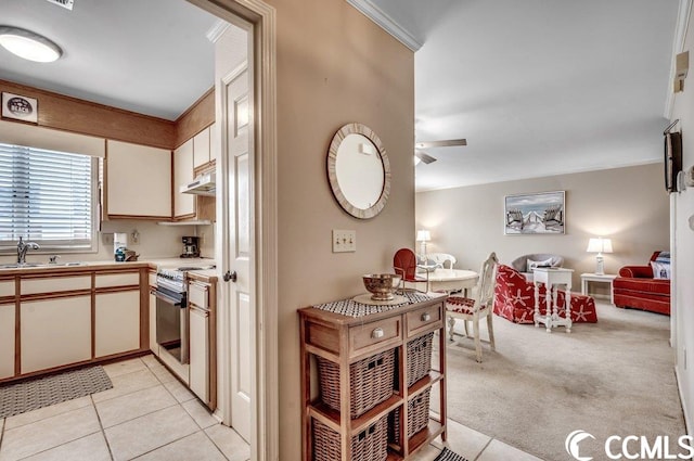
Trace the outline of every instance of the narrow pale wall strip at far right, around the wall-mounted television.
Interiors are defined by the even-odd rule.
[[[684,51],[692,52],[694,43],[694,14],[690,14],[689,30]],[[682,166],[694,166],[694,84],[690,74],[684,82],[684,91],[678,93],[674,100],[672,119],[680,119],[679,129],[682,131]],[[678,128],[676,128],[677,130]],[[674,309],[674,348],[677,351],[677,372],[687,422],[687,433],[692,434],[692,418],[694,417],[694,367],[692,367],[692,354],[694,353],[694,229],[689,226],[689,219],[694,219],[694,188],[672,194],[673,226],[672,238],[674,240],[674,276],[672,293]],[[689,353],[687,353],[689,351]],[[686,358],[689,356],[689,359]]]

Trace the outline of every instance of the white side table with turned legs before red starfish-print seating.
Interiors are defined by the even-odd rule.
[[[560,268],[536,268],[532,269],[534,283],[535,283],[535,326],[540,326],[540,323],[544,323],[548,332],[552,332],[554,326],[566,326],[566,332],[571,332],[571,276],[574,269],[560,269]],[[547,286],[547,312],[544,316],[540,316],[540,284],[544,283]],[[562,318],[558,315],[558,306],[556,300],[558,297],[558,287],[564,286],[566,294],[564,296],[564,309],[565,317]]]

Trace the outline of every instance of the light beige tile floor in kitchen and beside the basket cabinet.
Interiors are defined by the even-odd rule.
[[[113,388],[0,420],[0,461],[246,461],[250,448],[153,356],[104,366]],[[470,461],[541,461],[455,421],[444,445]]]

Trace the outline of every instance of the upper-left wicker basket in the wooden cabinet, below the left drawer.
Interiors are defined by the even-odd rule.
[[[339,411],[339,364],[316,357],[321,400]],[[349,417],[359,418],[387,400],[394,390],[395,349],[385,350],[349,366]]]

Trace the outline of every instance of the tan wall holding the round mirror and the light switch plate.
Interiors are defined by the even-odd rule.
[[[414,227],[414,56],[344,0],[269,0],[277,8],[280,453],[300,458],[298,308],[362,293]],[[390,200],[359,220],[335,202],[325,161],[346,123],[375,130],[390,159]],[[332,229],[357,231],[333,254]]]

